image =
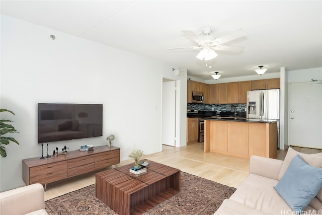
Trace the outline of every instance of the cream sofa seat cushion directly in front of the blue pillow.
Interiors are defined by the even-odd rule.
[[[274,189],[277,182],[274,179],[250,174],[229,199],[269,214],[292,211]]]

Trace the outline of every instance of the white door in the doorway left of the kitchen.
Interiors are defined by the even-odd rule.
[[[162,86],[162,144],[175,146],[176,81],[163,82]]]

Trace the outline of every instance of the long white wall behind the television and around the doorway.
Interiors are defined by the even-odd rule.
[[[49,35],[55,35],[51,40]],[[1,108],[16,113],[12,119],[20,132],[12,134],[20,145],[6,146],[0,158],[0,190],[23,186],[22,160],[40,157],[37,144],[37,103],[103,104],[103,136],[51,142],[49,152],[66,146],[112,145],[121,148],[121,160],[132,149],[145,154],[161,147],[162,77],[186,82],[162,62],[111,48],[89,40],[1,15]],[[180,134],[185,145],[186,84],[180,87]],[[46,153],[46,150],[44,151]]]

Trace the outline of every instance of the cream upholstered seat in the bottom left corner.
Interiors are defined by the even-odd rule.
[[[1,215],[46,214],[44,187],[32,184],[0,193]]]

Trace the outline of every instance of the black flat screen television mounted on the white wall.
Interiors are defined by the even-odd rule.
[[[38,143],[103,134],[102,104],[38,103]]]

